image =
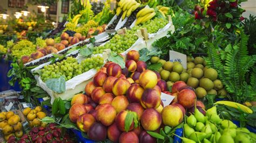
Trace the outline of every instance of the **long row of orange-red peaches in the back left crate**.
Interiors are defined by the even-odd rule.
[[[85,36],[82,36],[80,33],[75,33],[73,37],[69,37],[69,34],[63,32],[60,35],[60,43],[56,43],[54,39],[49,38],[46,39],[46,47],[39,47],[36,49],[35,53],[31,53],[30,56],[29,54],[22,56],[22,62],[27,63],[31,62],[33,60],[42,58],[45,55],[51,54],[51,53],[57,53],[58,51],[61,51],[62,49],[74,45],[79,41],[85,40]]]

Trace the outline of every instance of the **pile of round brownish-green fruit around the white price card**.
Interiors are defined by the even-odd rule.
[[[217,79],[218,73],[213,68],[207,68],[206,62],[201,57],[195,59],[187,57],[187,70],[179,62],[170,62],[152,56],[151,63],[161,63],[159,70],[161,79],[172,85],[176,81],[184,81],[190,87],[196,89],[198,98],[203,98],[207,94],[219,95],[225,97],[227,91],[223,84]]]

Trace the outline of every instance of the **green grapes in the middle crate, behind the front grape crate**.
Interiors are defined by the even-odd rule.
[[[129,49],[137,39],[138,37],[134,35],[134,32],[127,30],[123,35],[114,35],[105,45],[94,47],[93,54],[102,53],[104,49],[111,49],[114,53],[123,53]]]

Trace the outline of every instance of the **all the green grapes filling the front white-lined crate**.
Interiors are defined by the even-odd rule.
[[[60,76],[64,76],[65,81],[68,81],[92,68],[99,69],[103,65],[103,61],[102,57],[96,56],[87,58],[81,63],[78,63],[76,58],[69,56],[66,60],[44,66],[41,70],[41,79],[45,82],[50,78],[59,78]]]

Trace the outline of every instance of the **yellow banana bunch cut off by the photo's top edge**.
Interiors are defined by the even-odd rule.
[[[117,8],[117,16],[120,15],[120,13],[123,11],[122,19],[124,20],[125,17],[130,17],[132,12],[139,8],[140,3],[132,0],[121,0],[118,3],[118,8]]]

